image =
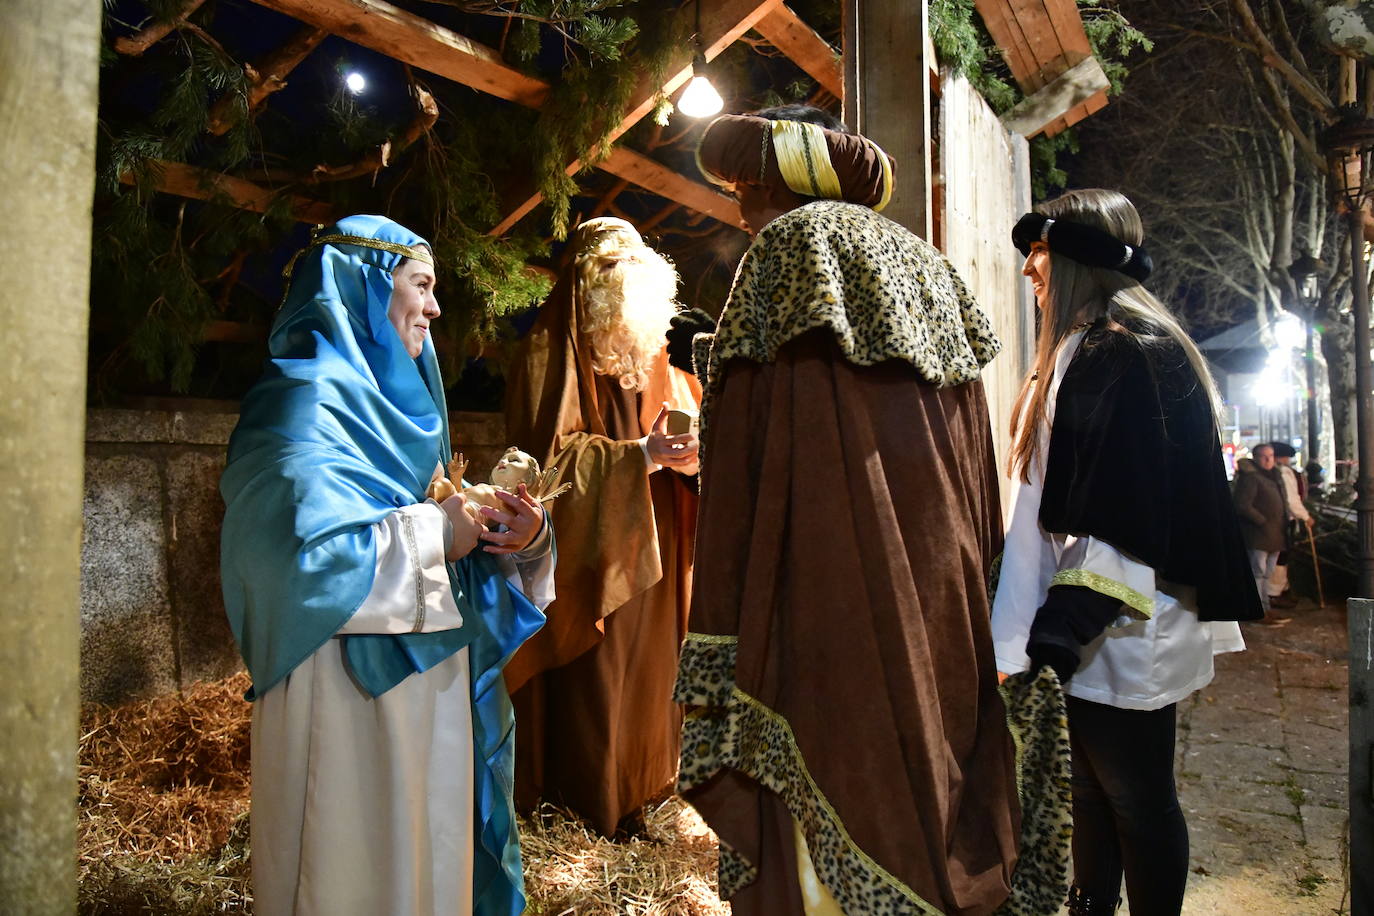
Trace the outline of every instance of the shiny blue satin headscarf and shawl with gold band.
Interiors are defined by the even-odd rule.
[[[448,459],[434,347],[426,336],[412,358],[387,317],[392,272],[407,257],[433,261],[414,232],[354,216],[317,232],[287,268],[271,360],[243,400],[220,481],[224,606],[253,677],[250,699],[348,622],[372,588],[372,526],[422,501],[436,464]],[[354,680],[378,696],[473,647],[478,912],[518,913],[514,717],[500,667],[544,618],[481,551],[451,564],[449,581],[460,629],[346,636],[345,656]]]

